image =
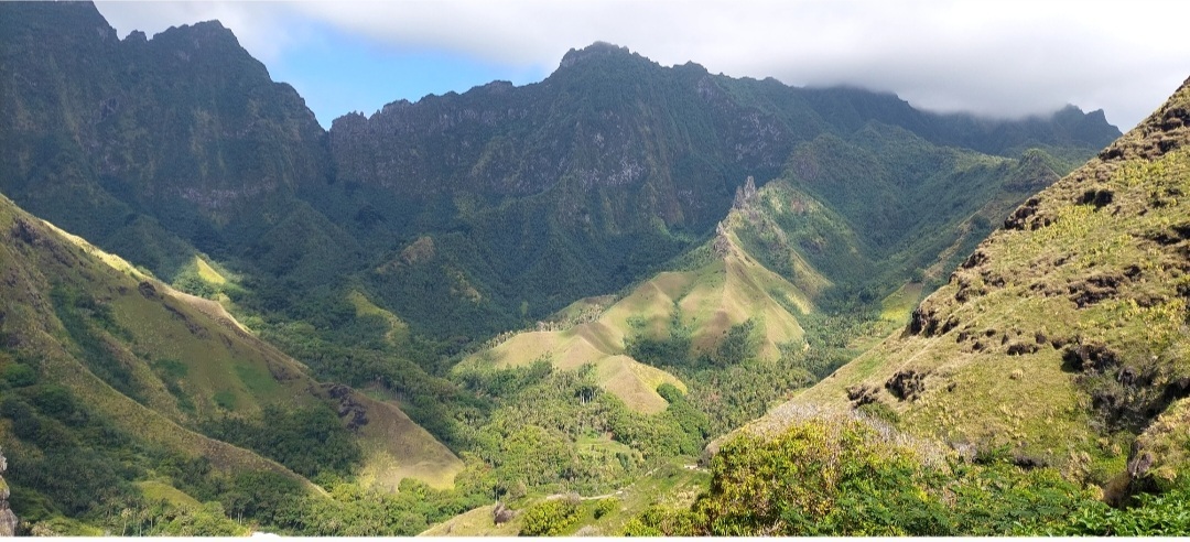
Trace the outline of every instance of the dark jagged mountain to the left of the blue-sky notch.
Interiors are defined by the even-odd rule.
[[[6,4],[0,65],[0,191],[165,276],[330,176],[302,99],[218,21],[120,40],[90,4]]]

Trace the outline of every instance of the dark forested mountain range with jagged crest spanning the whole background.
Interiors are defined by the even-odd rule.
[[[929,229],[922,212],[950,221],[994,200],[1012,169],[996,174],[996,157],[1036,147],[1040,170],[1064,172],[1119,134],[1102,112],[937,115],[607,44],[540,83],[394,102],[324,132],[218,23],[120,40],[89,4],[0,10],[5,194],[169,282],[205,253],[243,273],[236,301],[253,310],[336,314],[326,305],[356,282],[439,339],[516,328],[659,271],[713,235],[747,176],[793,170],[896,252]]]

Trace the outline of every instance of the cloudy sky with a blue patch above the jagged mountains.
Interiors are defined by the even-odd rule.
[[[596,40],[662,65],[892,92],[994,118],[1072,103],[1135,126],[1190,77],[1190,2],[909,0],[96,1],[123,38],[218,19],[324,127],[396,100],[549,76]]]

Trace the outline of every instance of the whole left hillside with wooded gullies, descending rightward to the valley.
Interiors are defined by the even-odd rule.
[[[193,490],[189,474],[165,474],[163,458],[209,461],[231,477],[274,472],[313,494],[303,477],[358,468],[384,486],[405,477],[450,485],[462,468],[397,406],[315,382],[218,303],[4,197],[0,232],[0,442],[31,519],[109,505],[132,480]],[[80,461],[101,475],[55,483],[64,473],[56,461],[77,446],[92,447]],[[108,471],[111,454],[125,454],[130,469]],[[89,505],[63,497],[96,491]]]

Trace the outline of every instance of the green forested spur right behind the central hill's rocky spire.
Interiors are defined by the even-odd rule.
[[[940,278],[1059,171],[1066,168],[1041,150],[1009,158],[938,147],[871,121],[797,145],[740,234],[787,277],[809,265],[843,286],[837,294],[883,296],[907,278]],[[807,286],[814,298],[827,290]]]

